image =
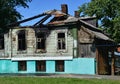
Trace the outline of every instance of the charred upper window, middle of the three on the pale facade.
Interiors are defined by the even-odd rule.
[[[44,32],[37,33],[37,49],[45,50],[45,40]]]

